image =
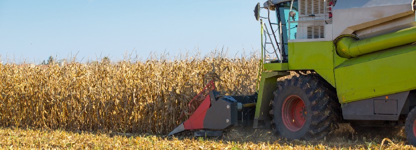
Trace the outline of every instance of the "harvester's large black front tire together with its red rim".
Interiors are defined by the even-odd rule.
[[[341,115],[335,88],[316,73],[278,81],[274,94],[270,113],[275,133],[289,140],[316,140],[338,127]]]

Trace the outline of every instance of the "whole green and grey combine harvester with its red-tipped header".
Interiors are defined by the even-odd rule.
[[[258,94],[224,96],[205,88],[202,103],[170,135],[188,129],[221,135],[251,121],[254,128],[271,124],[283,137],[308,140],[349,122],[379,131],[405,126],[409,143],[416,145],[415,9],[414,0],[258,3],[263,62]],[[278,81],[289,71],[299,75]]]

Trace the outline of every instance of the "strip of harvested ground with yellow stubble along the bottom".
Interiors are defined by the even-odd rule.
[[[235,131],[231,131],[231,134]],[[414,149],[400,138],[355,141],[339,136],[319,141],[278,139],[267,129],[241,133],[248,137],[223,139],[165,137],[150,134],[71,132],[48,129],[0,128],[1,149]],[[236,137],[236,136],[235,136]],[[244,137],[244,136],[241,136]],[[259,139],[260,138],[260,139]],[[345,139],[342,139],[345,138]],[[381,143],[383,143],[381,145]]]

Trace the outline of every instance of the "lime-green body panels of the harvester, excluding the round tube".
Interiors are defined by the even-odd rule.
[[[265,63],[265,70],[315,70],[336,87],[341,103],[416,89],[416,43],[349,59],[338,56],[332,41],[290,42],[288,45],[289,62]],[[255,115],[260,120],[265,109],[270,108],[276,79],[284,76],[270,73],[262,73]]]

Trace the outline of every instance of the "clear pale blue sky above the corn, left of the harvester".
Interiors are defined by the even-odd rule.
[[[2,61],[260,48],[253,0],[0,0]],[[263,1],[262,1],[263,2]],[[254,49],[253,49],[254,48]]]

